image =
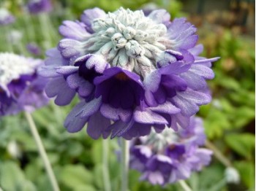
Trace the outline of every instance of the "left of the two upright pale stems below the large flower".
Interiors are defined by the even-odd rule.
[[[103,182],[105,191],[111,191],[110,176],[108,171],[108,139],[102,139]]]

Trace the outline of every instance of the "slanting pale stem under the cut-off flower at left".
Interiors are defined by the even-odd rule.
[[[34,120],[31,116],[31,114],[29,114],[29,112],[25,112],[25,116],[26,116],[26,120],[28,120],[28,122],[29,122],[29,128],[31,130],[32,135],[34,136],[34,140],[36,141],[36,144],[37,144],[37,147],[39,150],[39,154],[41,155],[42,160],[44,162],[45,169],[48,173],[50,183],[52,184],[53,190],[59,191],[59,185],[57,183],[55,175],[53,174],[53,168],[51,167],[48,156],[46,155],[45,148],[43,147],[42,140],[40,139],[39,133],[37,131],[37,127],[34,124]]]

